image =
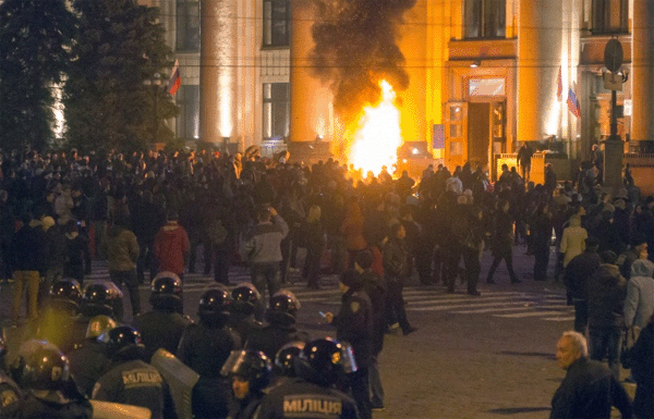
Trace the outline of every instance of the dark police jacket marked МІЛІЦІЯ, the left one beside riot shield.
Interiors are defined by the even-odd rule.
[[[93,398],[150,409],[153,419],[174,418],[174,407],[159,371],[140,359],[120,362],[102,375]]]

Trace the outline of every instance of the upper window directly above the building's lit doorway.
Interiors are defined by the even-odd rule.
[[[507,35],[506,0],[465,0],[465,38],[504,38]]]

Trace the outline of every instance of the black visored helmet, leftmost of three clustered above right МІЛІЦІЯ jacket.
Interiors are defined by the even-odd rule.
[[[220,370],[222,377],[238,375],[246,380],[253,393],[270,384],[271,372],[270,360],[258,350],[232,350]]]

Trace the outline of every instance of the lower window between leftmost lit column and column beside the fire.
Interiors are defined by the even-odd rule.
[[[291,102],[288,83],[264,83],[264,139],[289,135]]]

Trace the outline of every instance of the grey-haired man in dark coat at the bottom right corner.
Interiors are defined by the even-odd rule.
[[[556,358],[567,372],[552,398],[550,419],[609,419],[611,406],[623,419],[632,417],[625,387],[606,366],[588,358],[582,334],[565,332],[556,345]]]

